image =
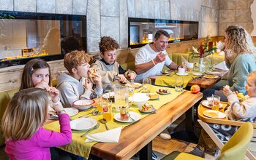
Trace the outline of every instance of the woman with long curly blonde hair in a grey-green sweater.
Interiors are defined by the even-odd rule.
[[[225,31],[225,62],[229,68],[227,85],[231,91],[247,94],[245,89],[246,77],[252,71],[256,71],[256,50],[249,33],[239,25],[230,25]],[[222,87],[225,84],[222,84]],[[203,94],[219,95],[222,101],[227,97],[222,90],[206,89]]]

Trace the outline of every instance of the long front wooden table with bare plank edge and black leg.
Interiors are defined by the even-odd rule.
[[[125,127],[118,143],[95,144],[91,148],[91,156],[94,159],[129,159],[140,151],[140,159],[152,159],[152,140],[182,114],[187,112],[187,116],[192,115],[192,106],[202,97],[202,93],[183,92],[156,113]],[[191,122],[187,117],[187,129],[192,127]]]

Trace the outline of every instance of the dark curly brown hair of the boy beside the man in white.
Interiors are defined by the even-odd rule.
[[[102,55],[104,54],[104,52],[118,49],[118,47],[118,42],[110,36],[102,36],[102,38],[100,39],[99,51],[102,52]]]

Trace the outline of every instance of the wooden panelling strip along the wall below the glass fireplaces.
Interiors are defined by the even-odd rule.
[[[214,41],[219,41],[223,39],[223,36],[219,37],[211,37],[211,39]],[[167,52],[168,53],[185,53],[185,52],[191,52],[192,46],[199,47],[200,41],[203,41],[203,39],[196,39],[192,41],[182,41],[178,43],[168,44]],[[253,41],[256,44],[256,37],[253,37]],[[138,52],[139,48],[136,49],[118,49],[118,55],[116,60],[120,64],[124,63],[130,63],[135,61],[135,54]],[[93,52],[89,53],[91,56],[99,55],[99,52]],[[55,74],[58,71],[64,71],[64,65],[63,60],[54,60],[48,62],[51,68],[52,73],[52,79],[55,80],[56,76]],[[21,74],[23,71],[24,65],[18,65],[8,68],[1,68],[0,69],[0,92],[7,91],[10,89],[16,89],[20,87],[20,79]]]

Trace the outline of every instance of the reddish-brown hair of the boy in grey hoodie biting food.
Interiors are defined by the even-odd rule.
[[[67,68],[69,73],[72,73],[72,68],[77,68],[79,65],[83,63],[89,63],[91,57],[86,54],[84,51],[72,51],[65,55],[64,57],[64,66]]]

